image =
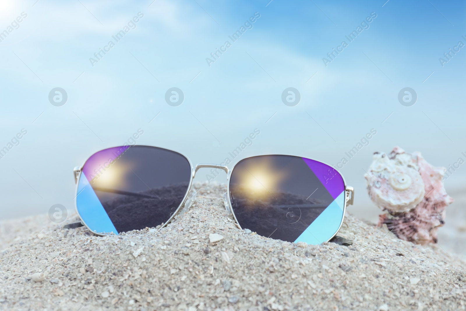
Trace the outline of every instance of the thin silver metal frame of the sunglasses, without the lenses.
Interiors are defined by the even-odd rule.
[[[171,150],[171,149],[167,149],[167,148],[163,148],[163,147],[158,147],[158,146],[148,146],[148,145],[138,145],[138,146],[144,146],[144,147],[154,147],[154,148],[160,148],[160,149],[164,149],[164,150],[168,150],[168,151],[171,151],[171,152],[177,152],[177,151],[174,151],[174,150]],[[119,147],[119,146],[117,146]],[[110,147],[112,148],[112,147]],[[109,149],[109,148],[106,148],[106,149]],[[102,149],[102,150],[105,150],[105,149]],[[101,151],[102,151],[101,150]],[[249,158],[254,158],[254,157],[260,157],[260,156],[268,156],[268,155],[281,155],[281,156],[292,156],[292,157],[299,157],[299,158],[306,158],[306,157],[300,157],[300,156],[295,156],[295,155],[289,155],[289,154],[260,154],[260,155],[255,155],[255,156],[251,156],[251,157],[247,157],[247,158],[243,158],[241,159],[240,161],[236,162],[235,165],[231,168],[231,169],[228,169],[227,166],[224,166],[224,165],[219,165],[219,164],[214,164],[214,163],[199,163],[198,165],[196,166],[192,166],[192,163],[191,163],[191,160],[186,157],[183,153],[181,152],[177,152],[179,154],[181,154],[183,157],[185,157],[186,160],[188,160],[188,163],[189,165],[191,166],[191,180],[189,181],[189,185],[188,185],[188,190],[186,191],[186,194],[185,194],[185,197],[183,198],[183,200],[181,201],[180,205],[178,206],[178,208],[176,209],[176,211],[170,216],[170,218],[164,222],[164,224],[162,226],[160,226],[160,228],[164,228],[168,223],[171,222],[171,220],[178,214],[178,211],[180,209],[185,209],[184,205],[186,204],[186,200],[188,198],[188,194],[191,192],[191,187],[192,187],[192,181],[194,180],[194,176],[196,175],[196,172],[200,169],[200,168],[219,168],[219,169],[222,169],[225,171],[226,173],[226,183],[227,183],[227,186],[226,186],[226,193],[224,194],[223,196],[223,200],[224,200],[224,204],[225,204],[225,208],[227,210],[227,212],[229,212],[230,214],[233,215],[233,218],[234,220],[236,221],[236,223],[238,224],[238,226],[240,227],[240,229],[242,230],[243,228],[241,228],[241,225],[240,223],[238,222],[238,220],[236,219],[236,215],[234,214],[234,211],[233,211],[233,207],[232,207],[232,203],[231,203],[231,199],[230,199],[230,177],[231,177],[231,174],[233,172],[233,169],[235,168],[235,166],[240,163],[242,160],[245,160],[245,159],[249,159]],[[309,159],[309,158],[306,158],[306,159]],[[87,160],[86,160],[87,161]],[[315,161],[318,161],[318,160],[315,160]],[[325,165],[328,165],[330,166],[329,164],[325,163],[325,162],[322,162],[322,161],[318,161],[318,162],[321,162]],[[84,162],[85,164],[86,162]],[[83,165],[84,166],[84,165]],[[105,234],[102,234],[102,233],[97,233],[95,231],[92,231],[89,226],[82,220],[82,217],[81,215],[79,214],[78,212],[78,208],[77,208],[77,204],[76,204],[76,199],[77,199],[77,196],[78,196],[78,185],[79,185],[79,179],[81,178],[81,172],[82,172],[82,167],[83,166],[76,166],[73,170],[73,174],[74,174],[74,177],[75,177],[75,184],[76,184],[76,190],[75,190],[75,209],[76,209],[76,213],[78,214],[79,218],[81,219],[81,222],[83,225],[85,225],[89,231],[91,231],[92,233],[94,233],[95,235],[100,235],[100,236],[103,236]],[[330,166],[330,167],[333,167],[333,166]],[[354,201],[354,188],[353,187],[350,187],[350,186],[347,186],[346,185],[346,181],[345,181],[345,178],[343,177],[343,174],[340,173],[336,168],[334,168],[336,170],[336,172],[338,172],[340,174],[340,176],[342,176],[342,179],[343,179],[343,184],[344,184],[344,187],[345,187],[345,200],[344,200],[344,203],[343,203],[343,217],[342,217],[342,221],[340,222],[340,226],[338,227],[338,230],[336,230],[336,232],[327,240],[327,241],[324,241],[324,242],[329,242],[337,233],[338,231],[340,230],[340,228],[342,228],[342,225],[343,225],[343,220],[345,218],[345,214],[346,214],[346,207],[347,205],[353,205],[353,201]],[[191,204],[189,204],[191,205]],[[189,206],[186,208],[186,211],[189,210]]]

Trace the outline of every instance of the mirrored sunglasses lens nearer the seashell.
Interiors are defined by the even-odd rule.
[[[331,166],[286,155],[241,160],[229,195],[243,229],[288,242],[320,244],[340,228],[344,182]]]

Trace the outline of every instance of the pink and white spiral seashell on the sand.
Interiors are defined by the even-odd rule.
[[[379,215],[398,238],[418,244],[436,243],[445,221],[445,207],[453,202],[442,184],[445,168],[427,163],[420,152],[399,147],[390,154],[375,152],[364,175],[370,199],[388,214]]]

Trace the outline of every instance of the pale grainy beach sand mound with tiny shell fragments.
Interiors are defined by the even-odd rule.
[[[224,192],[204,184],[188,213],[137,235],[46,215],[1,222],[0,310],[465,309],[465,263],[439,245],[350,214],[339,232],[349,247],[268,239],[235,226]]]

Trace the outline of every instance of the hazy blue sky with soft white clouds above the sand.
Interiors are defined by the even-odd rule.
[[[73,167],[138,130],[138,145],[196,164],[223,162],[255,129],[230,168],[259,154],[320,160],[355,188],[352,212],[364,217],[373,152],[400,146],[434,166],[466,160],[465,9],[439,0],[0,0],[0,149],[13,145],[0,159],[0,219],[54,204],[73,212]],[[165,100],[171,88],[181,104]],[[286,101],[288,88],[299,102]],[[408,103],[398,99],[405,88]],[[466,164],[445,187],[465,181]]]

